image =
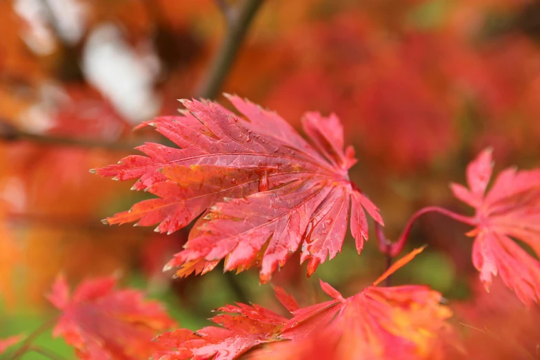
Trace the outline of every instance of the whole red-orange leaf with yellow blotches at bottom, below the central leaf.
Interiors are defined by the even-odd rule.
[[[377,288],[422,250],[406,255],[372,286],[349,298],[321,281],[321,288],[332,300],[298,308],[290,295],[275,288],[279,301],[292,314],[290,319],[257,305],[238,303],[220,308],[237,314],[212,318],[224,328],[163,334],[157,342],[172,350],[157,352],[153,358],[232,360],[261,344],[279,341],[283,345],[277,345],[276,354],[283,359],[306,358],[301,357],[301,350],[310,351],[317,343],[323,346],[319,354],[332,354],[324,359],[433,359],[439,335],[450,331],[446,319],[451,312],[439,304],[441,294],[427,286]],[[281,352],[281,347],[286,351]],[[268,350],[261,350],[261,356],[266,355]]]

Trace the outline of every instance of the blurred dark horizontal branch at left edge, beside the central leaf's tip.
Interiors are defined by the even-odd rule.
[[[103,148],[114,151],[131,151],[137,145],[121,142],[107,142],[90,139],[75,139],[55,135],[34,134],[12,126],[7,121],[0,120],[0,140],[30,141],[43,146],[70,146],[77,148]]]

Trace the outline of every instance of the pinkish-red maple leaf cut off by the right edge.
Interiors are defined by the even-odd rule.
[[[486,193],[492,167],[491,150],[483,150],[467,167],[468,188],[453,183],[452,192],[476,210],[470,221],[476,228],[468,234],[475,237],[472,262],[486,290],[500,274],[530,306],[540,301],[540,262],[512,238],[540,257],[540,170],[503,170]]]

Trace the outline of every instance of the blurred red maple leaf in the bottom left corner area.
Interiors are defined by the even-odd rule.
[[[148,359],[159,345],[158,332],[175,325],[161,304],[144,301],[137,290],[114,290],[117,279],[102,277],[83,281],[70,297],[63,276],[48,294],[62,312],[53,336],[63,337],[85,360]]]

